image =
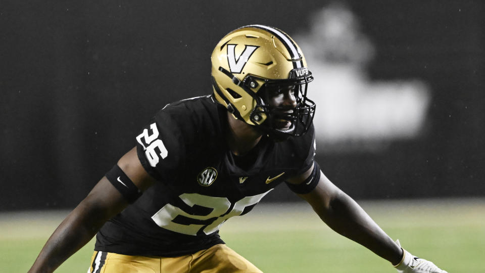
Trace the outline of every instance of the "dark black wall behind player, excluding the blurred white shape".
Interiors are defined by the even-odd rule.
[[[326,153],[363,198],[485,193],[485,4],[348,1],[373,40],[373,79],[431,87],[423,135],[380,153]],[[217,41],[246,24],[305,31],[323,1],[2,1],[0,210],[76,205],[165,104],[211,92]],[[311,66],[311,60],[309,60]],[[294,200],[279,187],[270,200]]]

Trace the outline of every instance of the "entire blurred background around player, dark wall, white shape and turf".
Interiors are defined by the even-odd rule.
[[[0,271],[26,271],[157,110],[211,92],[217,41],[257,23],[315,74],[324,173],[416,254],[485,272],[484,21],[471,0],[2,1]],[[221,234],[263,270],[392,272],[284,186],[262,203]],[[82,251],[59,271],[84,272]]]

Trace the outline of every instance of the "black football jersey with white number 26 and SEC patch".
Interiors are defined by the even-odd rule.
[[[224,243],[218,231],[227,219],[313,164],[313,125],[284,142],[263,136],[249,160],[229,150],[227,126],[227,110],[212,96],[158,112],[136,137],[138,158],[158,183],[105,223],[95,250],[179,256]]]

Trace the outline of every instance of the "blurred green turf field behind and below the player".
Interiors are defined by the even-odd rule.
[[[411,253],[450,273],[485,272],[485,200],[359,202]],[[0,272],[26,272],[67,211],[0,213]],[[311,208],[260,204],[222,226],[227,245],[264,272],[396,272],[365,248],[337,235]],[[93,242],[56,272],[86,272]]]

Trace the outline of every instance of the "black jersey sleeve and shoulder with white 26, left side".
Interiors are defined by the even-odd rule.
[[[157,180],[180,176],[187,162],[221,134],[217,109],[210,96],[203,96],[160,110],[136,136],[138,158],[147,172]]]

